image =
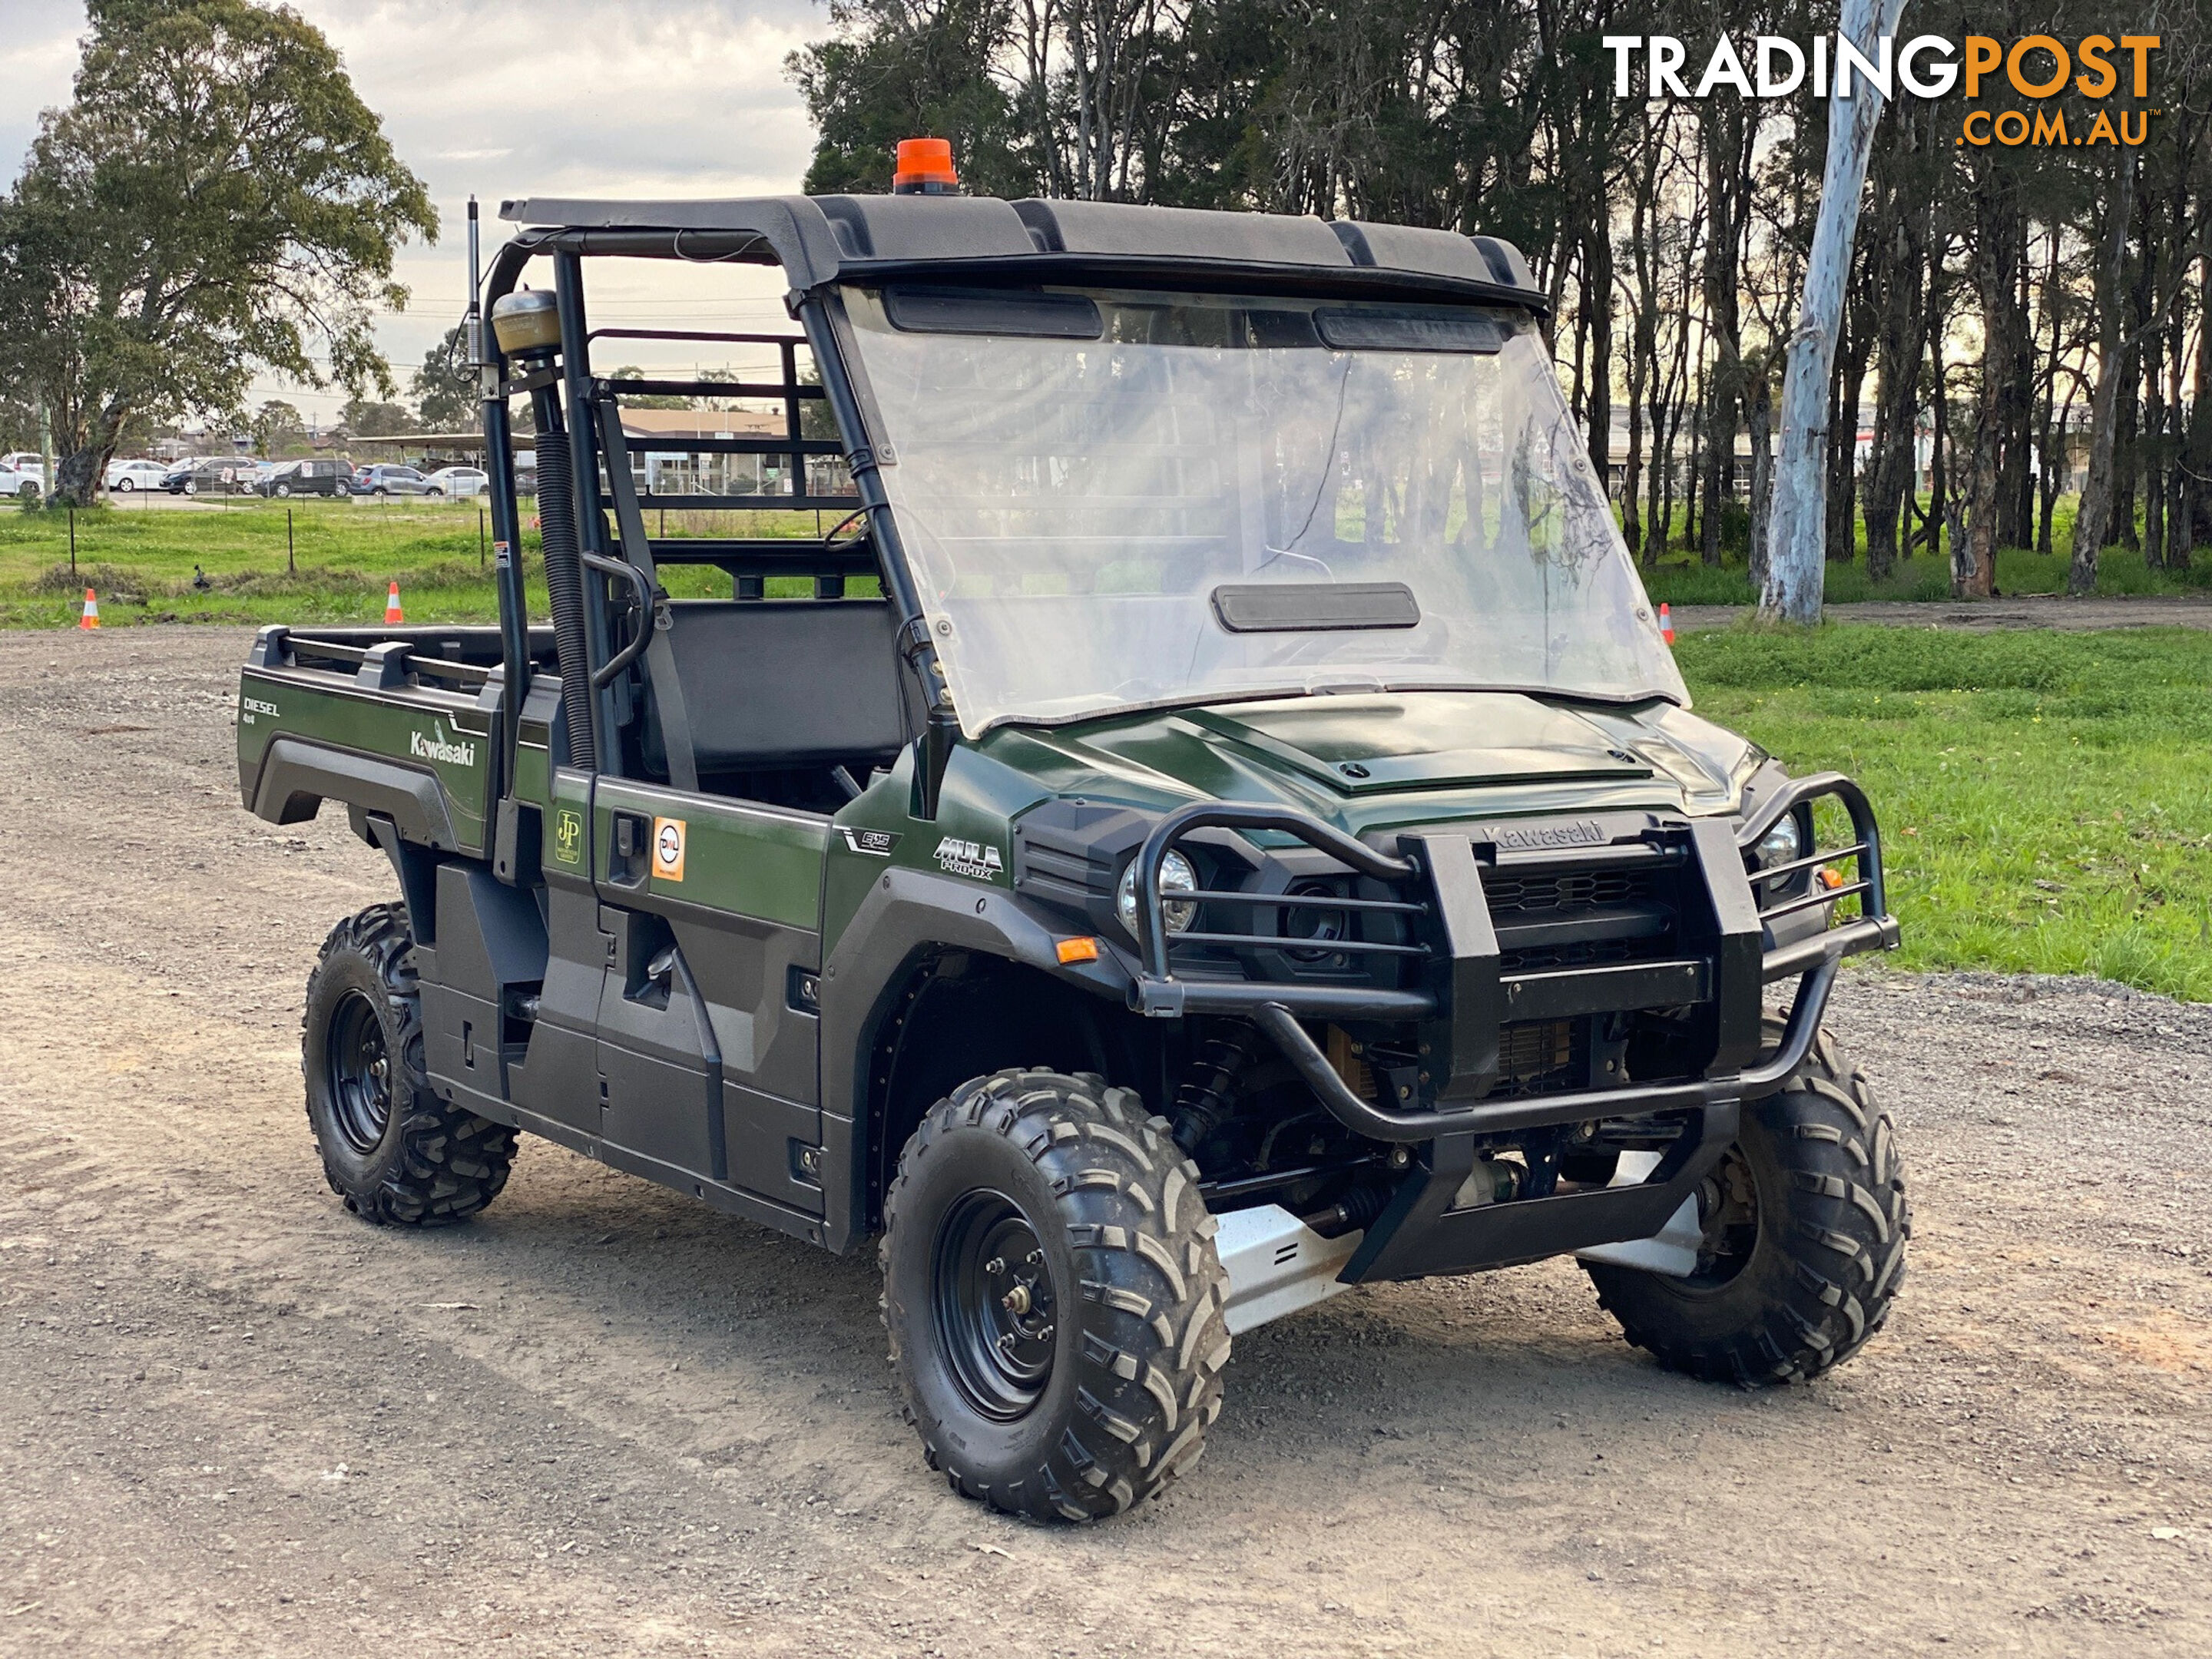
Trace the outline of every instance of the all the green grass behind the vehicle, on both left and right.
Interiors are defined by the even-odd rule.
[[[697,529],[670,524],[670,531]],[[792,515],[785,533],[812,533]],[[108,509],[66,520],[0,511],[0,626],[69,626],[84,586],[106,626],[376,622],[400,580],[409,622],[489,622],[473,504],[294,502],[285,509]],[[524,557],[535,564],[535,535]],[[2130,562],[2132,560],[2132,562]],[[195,564],[212,591],[192,588]],[[1907,566],[1949,593],[1933,562]],[[2104,560],[2106,591],[2166,586]],[[1672,586],[1677,575],[1688,586]],[[1721,591],[1721,577],[1736,591]],[[2154,580],[2152,580],[2154,577]],[[1694,582],[1712,584],[1710,588]],[[1832,597],[1863,568],[1829,571]],[[706,571],[670,573],[717,593]],[[2008,553],[2006,593],[2064,584],[2062,560]],[[2141,584],[2141,586],[2139,586]],[[1661,571],[1652,593],[1747,602],[1739,571]],[[1880,595],[1913,597],[1885,588]],[[533,613],[544,584],[533,580]],[[1836,768],[1871,792],[1889,838],[1909,967],[2101,973],[2212,1000],[2212,635],[1960,635],[1922,628],[1686,635],[1699,710],[1794,770]]]

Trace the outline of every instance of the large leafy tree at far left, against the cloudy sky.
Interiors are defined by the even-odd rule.
[[[135,418],[237,409],[257,372],[376,387],[398,246],[434,237],[338,53],[248,0],[91,0],[66,108],[0,204],[0,354],[88,504]]]

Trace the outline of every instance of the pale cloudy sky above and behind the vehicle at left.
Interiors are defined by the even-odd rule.
[[[400,383],[467,299],[467,201],[502,197],[717,197],[796,190],[812,150],[783,58],[825,27],[810,0],[292,0],[345,55],[400,159],[429,184],[442,234],[400,254],[414,290],[380,338]],[[0,0],[0,177],[13,177],[38,113],[69,102],[84,9]],[[487,223],[487,246],[500,234]],[[599,279],[595,321],[752,325],[783,321],[772,272]],[[265,383],[330,420],[341,396]]]

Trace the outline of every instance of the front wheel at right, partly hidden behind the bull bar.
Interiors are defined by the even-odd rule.
[[[1765,1042],[1783,1022],[1767,1015]],[[1803,1383],[1874,1336],[1905,1281],[1911,1206],[1889,1113],[1827,1031],[1743,1128],[1697,1194],[1688,1279],[1586,1261],[1597,1301],[1674,1371],[1756,1387]]]

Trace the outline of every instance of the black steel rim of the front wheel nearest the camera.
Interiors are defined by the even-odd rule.
[[[1029,1416],[1053,1378],[1057,1296],[1037,1230],[1004,1192],[964,1192],[945,1212],[931,1303],[962,1398],[993,1422]]]

